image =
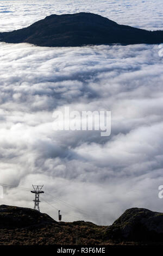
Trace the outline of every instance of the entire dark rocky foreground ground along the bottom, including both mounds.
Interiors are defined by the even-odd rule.
[[[162,245],[163,214],[128,209],[112,225],[57,222],[29,208],[0,206],[0,245]]]

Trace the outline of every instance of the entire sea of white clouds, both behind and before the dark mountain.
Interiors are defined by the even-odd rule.
[[[134,2],[134,3],[133,3]],[[135,3],[136,2],[136,3]],[[118,23],[163,29],[162,1],[0,1],[0,31],[49,14],[91,11]],[[158,45],[36,47],[0,43],[1,182],[44,190],[63,220],[110,224],[124,210],[162,211],[163,59]],[[111,111],[111,136],[54,131],[53,111]],[[33,207],[27,191],[1,204]],[[57,219],[43,201],[41,211]]]

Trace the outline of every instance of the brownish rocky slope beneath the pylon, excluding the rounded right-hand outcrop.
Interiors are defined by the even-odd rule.
[[[57,222],[37,210],[0,206],[0,245],[101,244],[105,228],[84,221]]]

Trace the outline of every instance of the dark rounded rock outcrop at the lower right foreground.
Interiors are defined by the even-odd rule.
[[[105,230],[116,241],[163,242],[163,214],[143,208],[126,210]]]

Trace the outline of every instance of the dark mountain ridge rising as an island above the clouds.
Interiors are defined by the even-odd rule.
[[[33,25],[0,33],[0,41],[66,47],[101,44],[161,44],[163,31],[118,25],[92,13],[50,15]]]

